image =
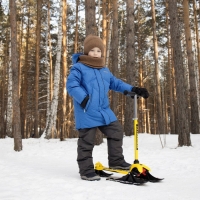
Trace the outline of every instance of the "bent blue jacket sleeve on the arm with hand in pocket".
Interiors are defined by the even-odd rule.
[[[85,89],[81,86],[81,69],[79,65],[74,65],[67,78],[67,91],[79,104],[87,96]]]

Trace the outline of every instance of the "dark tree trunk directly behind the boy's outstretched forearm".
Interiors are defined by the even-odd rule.
[[[126,81],[130,85],[135,85],[135,25],[134,25],[134,1],[127,0],[127,24],[126,24]],[[125,107],[125,135],[133,135],[133,99],[126,98]]]

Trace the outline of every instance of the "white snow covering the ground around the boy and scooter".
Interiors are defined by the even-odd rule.
[[[161,135],[162,141],[165,139]],[[25,139],[23,151],[13,150],[11,138],[0,140],[1,200],[199,200],[200,134],[191,135],[192,147],[178,147],[177,135],[139,134],[139,160],[151,174],[164,178],[142,186],[80,179],[77,139]],[[134,160],[133,136],[124,137],[126,161]],[[107,166],[107,144],[95,146],[94,163]],[[117,174],[118,175],[118,174]],[[119,176],[119,175],[118,175]],[[123,175],[120,175],[123,176]]]

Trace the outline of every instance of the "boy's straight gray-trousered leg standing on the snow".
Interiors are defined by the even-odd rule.
[[[94,172],[92,151],[94,148],[95,134],[96,128],[85,128],[79,130],[77,162],[80,175]]]

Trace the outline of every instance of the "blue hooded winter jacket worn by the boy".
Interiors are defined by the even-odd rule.
[[[117,79],[107,67],[100,69],[78,62],[81,54],[72,56],[73,66],[67,78],[67,91],[74,101],[76,129],[108,125],[117,120],[110,109],[108,92],[131,91],[131,85]],[[89,95],[85,109],[81,102]]]

